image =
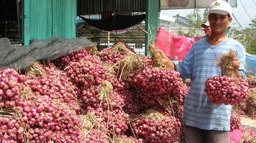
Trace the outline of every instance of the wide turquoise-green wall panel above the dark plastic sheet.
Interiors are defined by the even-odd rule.
[[[23,0],[24,45],[32,38],[76,37],[76,0]]]

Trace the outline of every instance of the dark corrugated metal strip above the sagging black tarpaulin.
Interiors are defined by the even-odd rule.
[[[145,12],[145,0],[77,0],[77,14]]]

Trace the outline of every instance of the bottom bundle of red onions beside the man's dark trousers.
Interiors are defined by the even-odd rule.
[[[181,123],[175,117],[147,112],[132,122],[132,128],[145,142],[176,142],[179,141]]]

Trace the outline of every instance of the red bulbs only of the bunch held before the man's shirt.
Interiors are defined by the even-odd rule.
[[[243,78],[215,76],[205,81],[205,92],[212,105],[235,105],[247,99],[248,83]]]

